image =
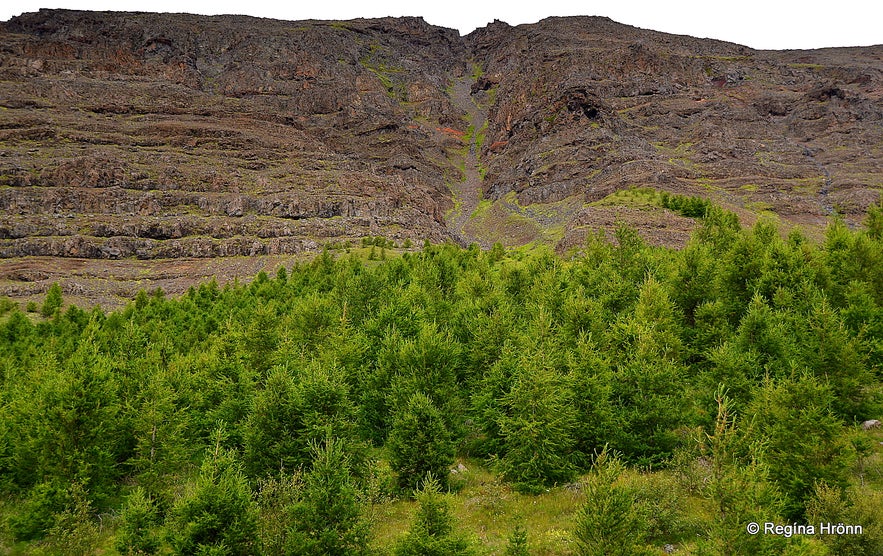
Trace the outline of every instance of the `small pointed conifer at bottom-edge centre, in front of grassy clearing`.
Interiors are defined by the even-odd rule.
[[[427,475],[417,492],[417,517],[395,547],[395,556],[468,556],[475,550],[457,533],[448,501],[438,481]]]

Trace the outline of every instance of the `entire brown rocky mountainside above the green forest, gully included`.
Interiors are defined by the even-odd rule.
[[[0,24],[0,288],[367,235],[682,244],[659,192],[812,235],[879,198],[881,97],[883,46],[41,10]]]

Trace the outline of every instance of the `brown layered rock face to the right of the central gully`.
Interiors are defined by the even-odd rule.
[[[755,51],[603,18],[494,23],[467,43],[499,83],[491,198],[650,186],[823,225],[879,196],[883,47]]]

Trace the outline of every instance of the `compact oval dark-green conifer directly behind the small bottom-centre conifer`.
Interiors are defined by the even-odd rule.
[[[427,473],[439,477],[433,484],[447,486],[454,445],[441,413],[425,394],[413,394],[398,413],[387,449],[401,488],[415,488]]]

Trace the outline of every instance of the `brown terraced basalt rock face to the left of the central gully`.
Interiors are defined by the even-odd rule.
[[[434,126],[456,31],[420,19],[41,11],[0,33],[0,257],[217,257],[449,239]]]

